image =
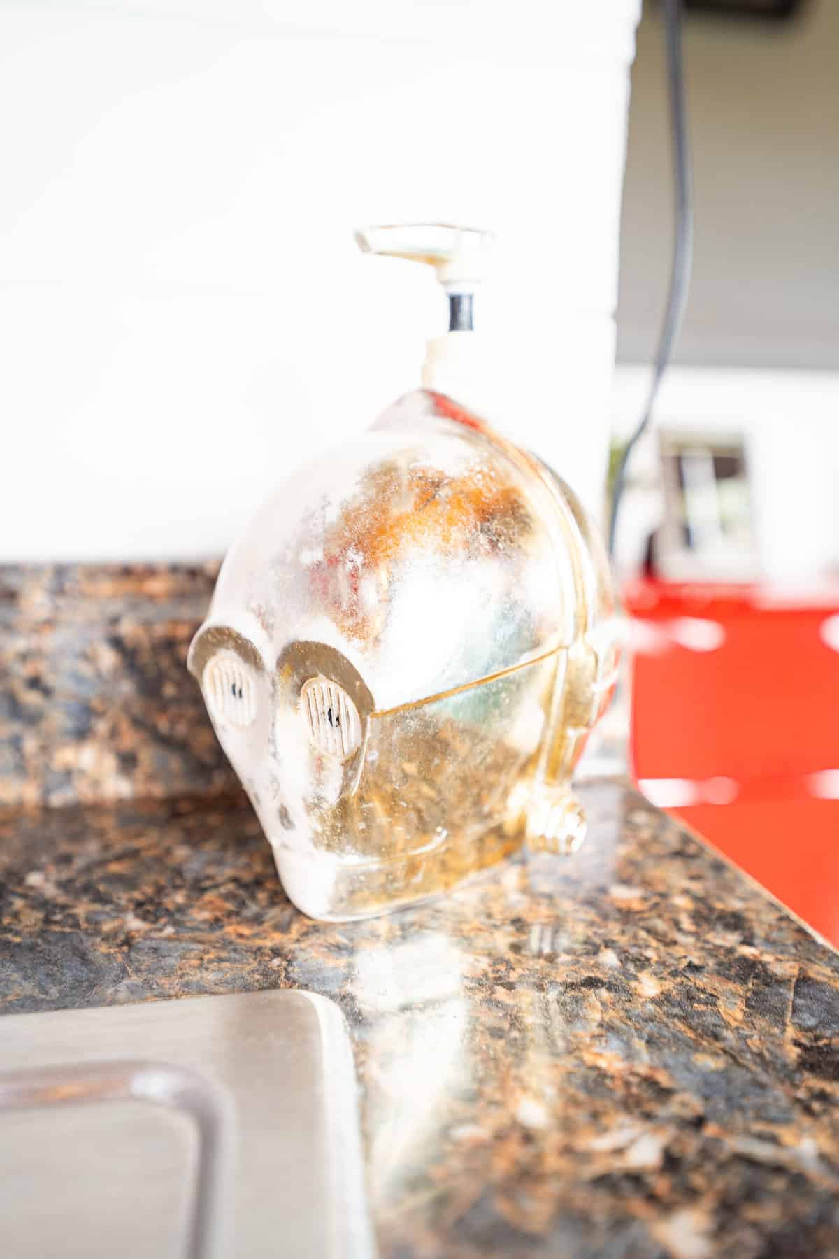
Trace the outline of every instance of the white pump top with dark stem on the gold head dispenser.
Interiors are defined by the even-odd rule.
[[[484,277],[493,240],[492,232],[449,223],[397,223],[356,232],[356,243],[364,253],[434,267],[449,298],[449,331],[428,342],[423,384],[482,412],[486,412],[481,402],[486,400],[487,374],[482,344],[473,331],[473,297]]]

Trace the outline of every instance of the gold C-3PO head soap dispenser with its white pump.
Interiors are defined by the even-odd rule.
[[[429,263],[469,378],[486,233],[375,228]],[[572,852],[571,778],[618,656],[605,551],[569,487],[455,398],[406,394],[289,476],[229,551],[189,666],[313,918],[444,891],[527,842]]]

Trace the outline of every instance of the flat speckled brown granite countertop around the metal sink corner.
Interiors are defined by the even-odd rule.
[[[394,1259],[839,1255],[839,958],[634,793],[582,797],[574,859],[340,925],[240,799],[8,812],[3,1010],[333,997]]]

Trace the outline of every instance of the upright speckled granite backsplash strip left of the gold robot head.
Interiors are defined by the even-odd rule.
[[[0,568],[0,802],[235,784],[186,672],[218,564]]]

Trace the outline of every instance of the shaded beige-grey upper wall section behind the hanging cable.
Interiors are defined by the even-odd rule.
[[[839,370],[839,4],[791,23],[691,14],[696,256],[675,351],[697,366]],[[633,67],[618,355],[647,363],[672,240],[660,6]]]

